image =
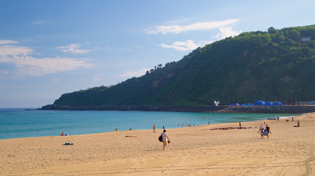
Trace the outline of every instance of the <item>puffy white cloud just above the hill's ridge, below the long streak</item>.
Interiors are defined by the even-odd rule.
[[[204,40],[204,41],[200,41],[198,43],[194,43],[193,40],[187,40],[185,42],[174,42],[171,45],[167,45],[167,44],[159,44],[159,46],[162,46],[163,48],[174,48],[175,50],[181,50],[181,51],[186,51],[186,50],[194,50],[198,47],[203,47],[206,44],[211,44],[216,40],[220,40],[226,37],[230,37],[230,36],[236,36],[238,34],[240,34],[242,31],[233,31],[232,27],[219,27],[220,33],[217,33],[215,36],[212,36],[212,38],[214,38],[214,40]]]

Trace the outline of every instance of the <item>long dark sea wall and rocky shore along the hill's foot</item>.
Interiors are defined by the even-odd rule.
[[[50,104],[43,106],[39,110],[100,110],[100,111],[117,110],[117,111],[301,114],[315,112],[315,106],[145,106],[145,105],[67,106]]]

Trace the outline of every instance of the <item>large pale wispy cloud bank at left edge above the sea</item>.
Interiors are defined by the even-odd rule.
[[[30,47],[1,45],[0,62],[14,65],[12,68],[8,67],[5,70],[1,70],[1,75],[42,76],[48,73],[60,73],[94,66],[94,64],[87,63],[88,59],[67,57],[35,58],[29,56],[32,54],[36,53]]]

